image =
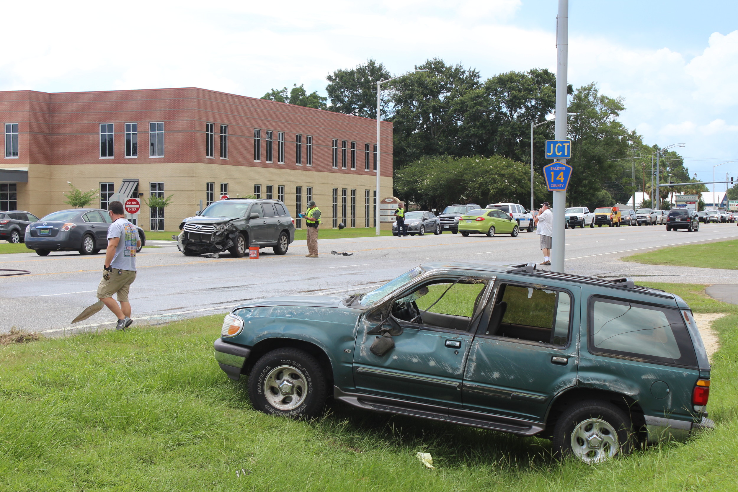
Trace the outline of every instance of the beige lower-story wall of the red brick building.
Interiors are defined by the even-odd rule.
[[[351,226],[351,189],[356,190],[356,226],[364,226],[365,190],[373,192],[376,185],[376,174],[364,170],[348,170],[346,172],[320,172],[317,170],[269,169],[264,167],[224,166],[221,164],[166,164],[157,162],[139,162],[131,159],[120,164],[30,164],[28,183],[18,183],[18,209],[43,217],[44,215],[68,208],[63,192],[69,190],[67,181],[71,181],[80,190],[100,190],[101,182],[112,182],[115,191],[120,189],[123,178],[139,179],[141,198],[148,197],[149,183],[163,181],[165,196],[173,195],[171,204],[165,209],[165,230],[176,231],[185,217],[194,215],[199,209],[200,200],[205,204],[205,183],[215,183],[215,200],[219,198],[221,183],[228,183],[229,195],[246,196],[254,193],[254,184],[261,184],[261,197],[266,198],[266,185],[274,187],[274,198],[277,198],[277,186],[285,187],[285,204],[293,217],[295,216],[295,187],[303,187],[303,211],[306,208],[306,187],[313,187],[313,200],[323,211],[325,226],[330,227],[331,191],[339,191],[339,221],[341,216],[341,189],[348,189],[346,226]],[[380,199],[392,195],[392,178],[382,176],[382,193]],[[143,204],[143,202],[142,202]],[[91,207],[100,207],[100,198],[96,198]],[[373,214],[372,214],[373,215]],[[149,229],[149,210],[142,207],[139,225]],[[370,222],[370,226],[373,223]],[[304,224],[303,224],[304,227]]]

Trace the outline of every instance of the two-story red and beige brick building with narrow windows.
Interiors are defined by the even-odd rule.
[[[64,204],[67,181],[172,201],[138,223],[173,231],[221,195],[313,199],[323,223],[374,225],[376,120],[197,88],[0,91],[0,209],[39,217]],[[392,124],[382,122],[382,190],[392,192]],[[94,202],[92,205],[96,205]],[[331,221],[332,218],[332,221]],[[326,224],[327,222],[327,224]],[[332,224],[331,224],[332,222]]]

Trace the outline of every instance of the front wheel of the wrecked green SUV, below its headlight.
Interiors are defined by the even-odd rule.
[[[289,393],[278,385],[287,383]],[[267,415],[314,417],[325,406],[328,384],[323,368],[310,354],[280,348],[261,356],[249,375],[249,398]]]

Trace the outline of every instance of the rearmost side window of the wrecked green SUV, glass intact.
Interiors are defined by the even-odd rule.
[[[694,367],[692,339],[679,311],[614,299],[590,302],[590,351]]]

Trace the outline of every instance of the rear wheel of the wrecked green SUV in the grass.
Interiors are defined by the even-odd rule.
[[[634,440],[625,412],[606,401],[585,400],[565,409],[556,421],[552,447],[559,457],[595,464],[630,454]]]

